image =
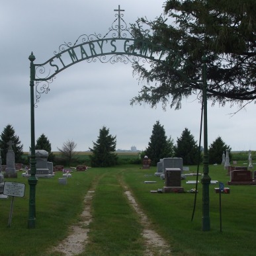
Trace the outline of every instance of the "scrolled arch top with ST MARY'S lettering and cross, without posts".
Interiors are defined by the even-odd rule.
[[[55,76],[78,62],[109,62],[114,64],[122,62],[124,64],[143,62],[165,62],[167,56],[171,60],[171,69],[179,73],[183,77],[183,68],[188,65],[187,60],[179,56],[176,52],[163,48],[159,45],[153,45],[146,41],[134,39],[126,22],[122,17],[120,5],[112,22],[112,26],[108,28],[105,36],[101,34],[83,34],[77,38],[74,44],[65,43],[60,45],[58,51],[54,52],[54,56],[42,64],[34,64],[34,77],[36,81],[36,103],[40,99],[42,93],[50,91],[50,83]],[[136,49],[136,45],[140,45],[140,50]],[[155,54],[157,50],[158,54]],[[34,59],[35,60],[35,59]],[[170,65],[170,62],[169,64]]]

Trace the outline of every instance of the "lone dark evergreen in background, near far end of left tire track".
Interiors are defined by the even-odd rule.
[[[116,136],[109,134],[109,128],[105,126],[99,130],[97,142],[93,142],[93,148],[89,148],[92,155],[90,155],[91,165],[93,167],[108,167],[116,165],[117,155],[116,151]]]

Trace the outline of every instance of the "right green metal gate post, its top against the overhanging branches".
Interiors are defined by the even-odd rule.
[[[210,230],[210,214],[209,214],[209,158],[208,158],[208,128],[207,128],[207,78],[206,78],[206,56],[202,57],[202,100],[204,103],[204,173],[202,175],[202,231]]]

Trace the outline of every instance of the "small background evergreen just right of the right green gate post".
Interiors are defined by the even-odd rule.
[[[209,163],[222,163],[222,154],[226,153],[226,150],[231,151],[230,146],[227,146],[225,142],[218,136],[208,149]],[[230,159],[232,158],[231,153],[229,153]]]

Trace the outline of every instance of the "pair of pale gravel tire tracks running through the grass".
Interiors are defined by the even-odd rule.
[[[171,249],[168,243],[163,239],[163,237],[157,234],[157,232],[151,229],[151,224],[148,217],[138,206],[134,196],[132,196],[132,192],[128,191],[127,187],[122,181],[120,181],[120,179],[118,179],[118,181],[123,187],[124,194],[126,194],[131,206],[134,208],[138,216],[140,216],[140,223],[143,226],[142,236],[144,237],[146,247],[144,255],[171,255]],[[53,247],[50,250],[51,253],[61,253],[61,255],[73,256],[85,252],[86,244],[88,243],[88,226],[93,220],[93,216],[91,215],[91,202],[93,200],[93,194],[96,187],[97,182],[93,183],[90,190],[85,195],[85,209],[81,213],[81,222],[69,228],[69,235],[58,246]]]

